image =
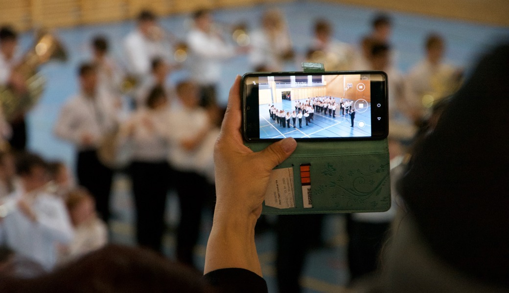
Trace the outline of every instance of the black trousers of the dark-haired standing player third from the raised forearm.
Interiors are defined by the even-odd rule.
[[[99,161],[95,150],[78,152],[76,168],[79,184],[92,193],[96,210],[107,223],[113,171]]]

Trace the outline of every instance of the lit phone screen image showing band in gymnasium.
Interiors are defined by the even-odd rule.
[[[261,139],[371,136],[370,75],[264,76],[258,82]]]

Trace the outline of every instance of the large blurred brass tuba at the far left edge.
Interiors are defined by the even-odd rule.
[[[39,32],[34,46],[13,69],[23,77],[27,91],[18,93],[9,85],[0,87],[0,106],[7,121],[29,111],[39,101],[46,79],[37,73],[37,68],[50,59],[65,61],[67,54],[55,36],[47,31]]]

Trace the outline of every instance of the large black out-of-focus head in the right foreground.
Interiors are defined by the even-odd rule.
[[[496,74],[494,74],[496,73]],[[509,287],[509,43],[483,57],[415,147],[399,193],[431,249]],[[478,101],[493,107],[471,107]],[[480,117],[470,119],[468,117]]]

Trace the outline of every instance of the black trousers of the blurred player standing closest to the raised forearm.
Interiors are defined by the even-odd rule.
[[[177,231],[177,260],[194,266],[193,250],[200,235],[202,210],[211,197],[211,185],[194,172],[175,171],[175,187],[180,203],[180,223]]]

